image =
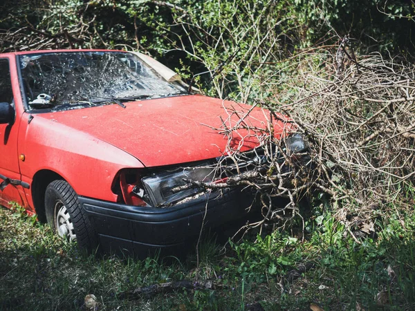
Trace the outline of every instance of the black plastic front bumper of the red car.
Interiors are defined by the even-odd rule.
[[[244,218],[255,209],[252,192],[232,189],[203,194],[172,207],[135,207],[79,197],[94,225],[103,252],[127,252],[146,256],[151,249],[181,249],[203,229]],[[221,229],[225,229],[223,226]]]

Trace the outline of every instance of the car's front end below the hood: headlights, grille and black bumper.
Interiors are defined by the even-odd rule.
[[[161,249],[172,254],[199,236],[201,229],[220,227],[223,231],[250,213],[259,214],[261,202],[255,185],[264,178],[273,179],[271,164],[279,165],[288,176],[309,160],[308,142],[302,135],[288,136],[284,146],[274,148],[272,158],[258,147],[237,156],[124,169],[112,187],[118,202],[84,196],[79,200],[104,252],[146,256],[151,249]],[[285,160],[287,155],[291,164]]]

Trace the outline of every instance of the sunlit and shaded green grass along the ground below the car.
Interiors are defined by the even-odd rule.
[[[295,229],[275,231],[225,254],[205,241],[198,266],[194,252],[182,261],[84,256],[23,211],[0,209],[0,309],[89,310],[94,294],[95,310],[415,310],[413,206],[375,210],[377,234],[356,234],[360,244],[329,211],[307,219],[304,241]],[[292,278],[304,263],[313,269]],[[132,293],[205,279],[213,289]]]

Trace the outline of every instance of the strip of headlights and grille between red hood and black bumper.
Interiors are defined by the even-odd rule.
[[[292,158],[295,158],[296,153],[305,153],[310,148],[308,140],[304,140],[304,136],[299,133],[286,137],[283,142],[285,143],[283,151]],[[271,152],[275,153],[273,157],[275,156],[278,162],[284,162],[284,156],[279,154],[276,146]],[[118,194],[120,202],[123,200],[127,205],[147,207],[172,205],[202,191],[197,186],[181,187],[189,185],[192,180],[224,182],[227,178],[245,171],[267,169],[266,166],[271,160],[273,159],[267,156],[264,149],[259,147],[241,153],[237,157],[237,164],[234,158],[221,156],[198,164],[190,163],[190,167],[170,167],[169,171],[161,171],[161,169],[168,169],[167,167],[154,168],[149,171],[125,169],[120,171],[118,182],[113,185],[113,193]],[[154,173],[148,175],[151,171]]]

